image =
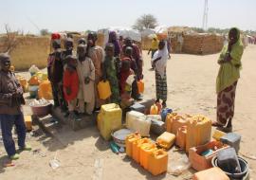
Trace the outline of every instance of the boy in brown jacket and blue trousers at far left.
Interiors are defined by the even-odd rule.
[[[22,112],[23,89],[15,75],[9,70],[10,58],[7,54],[0,54],[0,121],[5,149],[11,160],[19,158],[16,153],[14,140],[11,135],[13,125],[16,126],[18,146],[20,150],[30,151],[25,144],[26,125]]]

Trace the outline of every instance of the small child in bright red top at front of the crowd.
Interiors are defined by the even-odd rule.
[[[64,99],[68,103],[69,117],[78,120],[79,118],[76,117],[75,114],[79,90],[79,77],[76,69],[78,64],[77,58],[72,55],[68,55],[66,56],[65,61],[66,68],[64,70]]]

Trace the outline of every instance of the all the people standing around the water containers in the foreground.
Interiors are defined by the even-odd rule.
[[[78,41],[76,53],[72,38],[66,38],[64,50],[61,49],[60,38],[59,34],[52,35],[53,52],[47,60],[47,71],[52,85],[54,106],[60,106],[66,116],[78,120],[79,114],[91,115],[104,103],[115,102],[129,106],[133,99],[141,99],[137,81],[143,79],[143,60],[140,49],[130,38],[118,40],[117,34],[111,32],[109,42],[103,50],[101,46],[96,45],[97,34],[90,32],[87,40]],[[168,94],[166,65],[170,52],[166,41],[159,41],[157,44],[158,50],[152,54],[156,101],[161,99],[162,106],[165,107]],[[212,126],[217,126],[224,132],[232,131],[235,92],[240,78],[243,52],[240,30],[231,28],[229,44],[223,47],[218,59],[220,68],[216,81],[217,116],[216,121],[212,122]],[[23,88],[10,71],[11,61],[8,54],[0,54],[0,65],[0,122],[3,142],[9,158],[18,159],[19,154],[11,134],[14,125],[19,149],[31,150],[25,143]],[[132,81],[128,82],[131,78]],[[100,81],[109,81],[112,92],[109,99],[100,99],[97,89]]]

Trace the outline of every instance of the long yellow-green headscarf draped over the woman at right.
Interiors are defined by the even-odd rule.
[[[223,91],[240,78],[240,70],[242,67],[241,59],[244,52],[244,45],[240,37],[240,30],[236,27],[230,28],[230,30],[233,29],[236,29],[237,31],[237,42],[231,46],[230,52],[228,45],[225,45],[221,51],[218,63],[225,59],[227,53],[229,53],[231,60],[228,63],[220,64],[220,69],[216,80],[217,93]]]

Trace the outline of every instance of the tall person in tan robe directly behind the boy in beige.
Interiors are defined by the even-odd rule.
[[[102,69],[101,63],[104,62],[104,50],[101,46],[96,45],[97,41],[97,33],[90,32],[87,36],[87,55],[91,58],[94,67],[95,67],[95,106],[96,110],[100,109],[101,105],[104,104],[104,100],[99,98],[99,92],[97,89],[98,83],[101,81],[102,78]]]

